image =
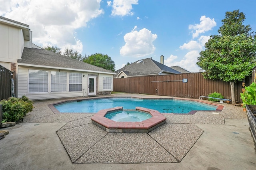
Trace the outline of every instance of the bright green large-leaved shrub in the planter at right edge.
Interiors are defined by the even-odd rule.
[[[256,77],[255,77],[256,79]],[[242,106],[245,108],[245,105],[256,105],[256,83],[252,82],[250,86],[246,87],[244,83],[242,84],[242,92],[240,93],[241,99],[243,101]]]

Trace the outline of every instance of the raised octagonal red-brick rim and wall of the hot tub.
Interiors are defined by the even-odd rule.
[[[98,111],[92,118],[92,123],[109,133],[148,133],[164,123],[166,117],[156,110],[136,107],[137,112],[150,114],[152,117],[141,122],[116,122],[105,117],[109,113],[120,113],[123,107],[114,107]]]

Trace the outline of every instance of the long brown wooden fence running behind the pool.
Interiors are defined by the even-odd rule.
[[[187,83],[183,83],[183,79],[187,79]],[[240,99],[242,82],[235,83],[234,89],[236,101],[242,102]],[[231,99],[229,82],[204,79],[202,73],[113,79],[113,91],[186,98],[199,98],[200,95],[208,96],[209,93],[216,91],[221,93],[225,99]]]

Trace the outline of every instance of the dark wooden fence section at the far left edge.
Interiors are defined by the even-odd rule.
[[[0,100],[12,96],[12,71],[0,65]]]

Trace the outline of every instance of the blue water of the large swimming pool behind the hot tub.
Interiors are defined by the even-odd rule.
[[[144,107],[154,109],[160,113],[189,113],[190,111],[213,111],[217,106],[208,105],[196,101],[177,99],[138,99],[138,98],[102,98],[82,101],[70,101],[54,105],[62,113],[97,113],[102,109],[113,107],[123,109],[135,109]]]

